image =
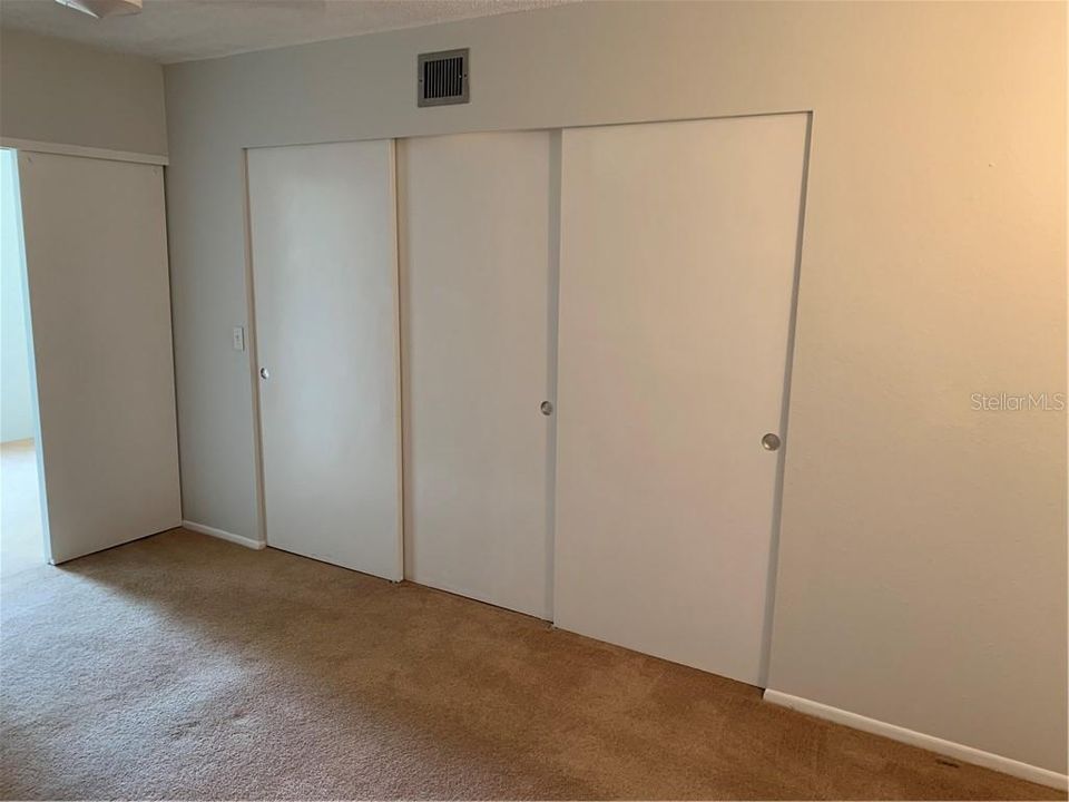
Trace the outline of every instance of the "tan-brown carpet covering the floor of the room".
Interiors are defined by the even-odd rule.
[[[4,798],[1063,799],[521,615],[176,530],[2,588]]]

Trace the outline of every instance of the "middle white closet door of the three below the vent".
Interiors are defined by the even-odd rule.
[[[549,134],[401,153],[406,576],[548,618]]]

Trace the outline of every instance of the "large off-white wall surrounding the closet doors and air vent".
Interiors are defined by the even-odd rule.
[[[415,56],[471,48],[468,106]],[[606,2],[166,68],[185,517],[257,536],[241,149],[814,113],[769,684],[1066,770],[1066,7]]]

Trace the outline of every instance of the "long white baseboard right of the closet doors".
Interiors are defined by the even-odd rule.
[[[925,735],[924,733],[906,730],[895,724],[887,724],[876,718],[869,718],[867,716],[850,713],[849,711],[802,698],[801,696],[792,696],[791,694],[773,691],[772,688],[765,691],[764,697],[766,702],[782,707],[790,707],[798,713],[805,713],[816,716],[817,718],[825,718],[836,724],[853,727],[854,730],[873,733],[874,735],[883,735],[892,741],[900,741],[911,746],[920,746],[929,752],[954,757],[963,763],[972,763],[973,765],[983,766],[984,769],[993,769],[1003,774],[1010,774],[1011,776],[1058,789],[1059,791],[1069,789],[1069,776],[1050,771],[1049,769],[1040,769],[1039,766],[1021,763],[1011,757],[1003,757],[1002,755],[984,752],[983,750],[973,749],[972,746],[965,746],[964,744],[954,743],[953,741],[944,741],[934,735]]]

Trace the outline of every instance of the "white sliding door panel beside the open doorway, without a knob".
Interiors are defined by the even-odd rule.
[[[21,153],[51,560],[180,524],[163,167]]]

